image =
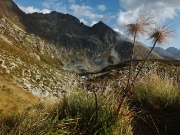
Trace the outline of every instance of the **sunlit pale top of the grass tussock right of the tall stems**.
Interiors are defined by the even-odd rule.
[[[148,81],[137,84],[134,92],[136,98],[143,101],[143,107],[180,109],[180,91],[173,82],[157,75],[152,75],[146,80]]]

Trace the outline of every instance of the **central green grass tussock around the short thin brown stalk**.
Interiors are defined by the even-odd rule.
[[[111,99],[108,96],[111,96]],[[70,97],[65,96],[58,107],[59,120],[73,120],[74,123],[68,126],[71,134],[132,134],[131,112],[128,106],[123,106],[120,112],[122,117],[116,119],[115,99],[112,95],[108,96],[97,92],[98,108],[93,93],[79,91]]]

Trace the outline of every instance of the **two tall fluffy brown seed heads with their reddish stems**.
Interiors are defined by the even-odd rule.
[[[144,64],[146,61],[149,59],[150,54],[152,53],[155,45],[158,44],[165,44],[167,43],[167,40],[171,37],[173,37],[173,32],[171,28],[167,28],[168,24],[164,25],[163,27],[156,26],[155,28],[152,28],[152,30],[149,33],[149,39],[152,39],[152,48],[150,52],[148,53],[147,57],[143,61],[143,64],[141,65],[140,69],[138,70],[137,74],[135,77],[132,79],[132,69],[133,69],[133,59],[134,59],[134,48],[136,44],[136,38],[138,34],[144,34],[146,33],[148,26],[153,24],[152,18],[148,17],[149,14],[144,14],[141,15],[134,23],[130,23],[126,26],[127,32],[129,35],[132,35],[134,37],[133,40],[133,47],[132,47],[132,54],[131,54],[131,63],[130,63],[130,68],[129,68],[129,75],[128,75],[128,80],[127,80],[127,85],[126,88],[123,90],[123,96],[122,100],[120,101],[118,108],[117,108],[117,116],[119,114],[119,111],[121,109],[121,106],[123,105],[124,100],[126,99],[127,96],[130,95],[130,93],[134,90],[134,83],[141,72]]]

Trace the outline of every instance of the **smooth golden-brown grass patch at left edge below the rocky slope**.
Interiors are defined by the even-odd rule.
[[[0,119],[7,118],[15,112],[22,113],[39,102],[39,99],[28,91],[0,78]]]

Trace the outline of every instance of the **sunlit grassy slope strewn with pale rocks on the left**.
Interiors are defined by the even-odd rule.
[[[76,88],[75,74],[59,68],[54,48],[4,17],[0,18],[0,75],[41,98]],[[56,63],[56,64],[55,64]],[[67,89],[67,87],[69,89]]]

